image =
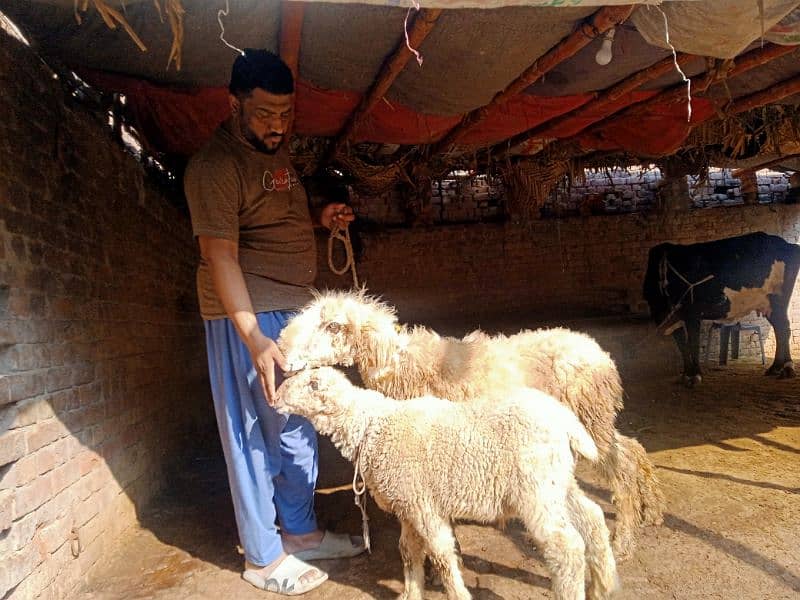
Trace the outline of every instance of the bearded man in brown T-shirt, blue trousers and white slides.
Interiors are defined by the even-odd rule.
[[[230,118],[192,158],[184,179],[200,245],[200,312],[243,577],[295,595],[327,579],[304,560],[355,556],[364,546],[317,528],[316,432],[271,406],[275,368],[285,367],[274,340],[290,311],[310,299],[316,275],[308,200],[282,147],[292,73],[271,52],[248,49],[234,62],[229,91]],[[330,229],[353,218],[345,204],[328,204],[319,223]]]

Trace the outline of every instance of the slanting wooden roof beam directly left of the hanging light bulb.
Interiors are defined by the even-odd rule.
[[[576,31],[545,52],[536,62],[525,69],[519,77],[512,81],[506,89],[498,92],[489,104],[468,113],[458,125],[434,144],[429,154],[436,155],[449,150],[450,146],[456,144],[464,134],[483,121],[494,107],[523,92],[525,88],[534,84],[566,59],[574,56],[592,40],[627,19],[633,9],[633,5],[621,5],[606,6],[598,10],[592,16],[590,22],[582,23]]]

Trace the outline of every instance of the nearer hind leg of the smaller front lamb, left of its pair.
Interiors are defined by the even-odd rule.
[[[572,524],[562,499],[540,499],[520,516],[544,553],[556,600],[585,600],[586,545]]]

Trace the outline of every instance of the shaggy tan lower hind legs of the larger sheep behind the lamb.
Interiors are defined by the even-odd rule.
[[[663,522],[665,501],[653,463],[642,445],[619,432],[614,442],[599,464],[611,485],[617,510],[614,553],[624,559],[632,552],[642,526]]]

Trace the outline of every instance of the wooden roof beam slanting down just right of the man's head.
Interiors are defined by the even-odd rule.
[[[442,12],[441,9],[421,10],[414,19],[411,31],[408,32],[408,45],[412,48],[418,48],[423,40],[428,37],[428,34],[433,31],[436,21],[439,19]],[[408,45],[406,44],[404,36],[398,43],[395,51],[381,67],[372,87],[370,87],[367,93],[361,98],[361,102],[336,136],[336,140],[333,142],[328,152],[323,156],[322,160],[320,160],[317,168],[328,164],[342,151],[344,145],[351,139],[358,125],[363,122],[364,118],[375,107],[378,101],[389,91],[395,79],[397,79],[413,56]]]

